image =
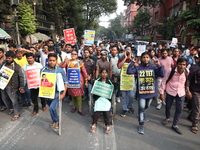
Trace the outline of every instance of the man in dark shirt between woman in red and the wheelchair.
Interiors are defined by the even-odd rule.
[[[91,54],[88,49],[84,50],[84,66],[87,71],[87,74],[91,77],[91,79],[95,78],[95,62],[90,58]],[[88,101],[90,101],[90,92],[92,90],[92,85],[88,83],[88,87],[85,88],[85,97],[88,98]]]

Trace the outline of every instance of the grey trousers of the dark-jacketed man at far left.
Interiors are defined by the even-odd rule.
[[[17,92],[12,93],[12,87],[7,86],[1,90],[2,100],[8,109],[14,109],[14,114],[19,114],[19,103],[17,99]]]

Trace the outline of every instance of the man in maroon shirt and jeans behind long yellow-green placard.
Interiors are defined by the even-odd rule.
[[[120,58],[118,60],[118,68],[122,69],[122,67],[125,65],[125,63],[130,64],[133,60],[133,58],[131,57],[132,53],[131,53],[131,47],[130,46],[126,46],[125,47],[125,52],[124,52],[124,57]],[[126,117],[126,115],[128,114],[128,112],[130,113],[134,113],[134,109],[133,109],[133,99],[135,97],[135,92],[136,92],[136,87],[135,87],[135,82],[134,81],[130,81],[133,82],[133,90],[121,90],[121,100],[122,100],[122,113],[121,113],[121,117]]]

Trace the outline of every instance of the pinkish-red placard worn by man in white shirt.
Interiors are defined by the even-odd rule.
[[[38,69],[26,70],[28,89],[38,88],[40,86],[40,72]]]

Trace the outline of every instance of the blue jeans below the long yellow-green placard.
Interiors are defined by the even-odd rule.
[[[134,82],[135,83],[135,82]],[[122,109],[128,111],[129,108],[133,108],[133,99],[136,93],[136,86],[131,91],[122,91],[121,90],[121,100],[122,100]]]

